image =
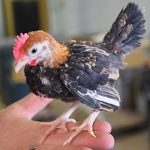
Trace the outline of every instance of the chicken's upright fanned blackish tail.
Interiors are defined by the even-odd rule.
[[[145,19],[135,3],[129,3],[119,13],[110,31],[105,35],[101,46],[113,53],[129,54],[141,45],[145,33]]]

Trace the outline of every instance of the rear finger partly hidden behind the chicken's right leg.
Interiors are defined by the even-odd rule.
[[[71,130],[72,127],[74,126],[79,126],[82,122],[77,122],[77,123],[68,123],[67,127],[68,129]],[[103,131],[103,132],[111,132],[111,125],[110,123],[106,121],[95,121],[93,125],[93,130],[94,131]]]

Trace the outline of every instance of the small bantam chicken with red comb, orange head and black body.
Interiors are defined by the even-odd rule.
[[[33,31],[17,36],[13,54],[18,72],[25,66],[25,76],[31,91],[41,97],[73,102],[41,138],[41,143],[56,128],[67,131],[69,117],[81,103],[93,112],[74,128],[66,140],[69,144],[80,132],[92,136],[93,123],[100,111],[117,110],[120,96],[115,89],[119,69],[126,67],[125,56],[140,46],[145,33],[145,19],[135,3],[129,3],[119,13],[102,42],[57,42],[44,31]]]

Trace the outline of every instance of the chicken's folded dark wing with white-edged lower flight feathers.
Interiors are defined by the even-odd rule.
[[[109,54],[96,47],[70,46],[71,57],[60,69],[60,77],[82,103],[98,110],[116,110],[118,92],[108,85]],[[81,48],[81,49],[80,49]]]

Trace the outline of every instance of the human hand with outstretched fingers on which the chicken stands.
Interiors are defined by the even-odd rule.
[[[47,123],[31,120],[41,109],[48,105],[52,99],[44,100],[34,94],[29,94],[20,101],[0,111],[0,149],[4,150],[30,150],[32,145],[37,146],[42,135],[49,128]],[[68,128],[77,123],[69,123]],[[107,122],[96,121],[94,133],[96,138],[82,132],[70,145],[63,143],[71,135],[58,129],[45,140],[36,150],[96,150],[110,149],[114,139],[110,135],[111,126]],[[33,149],[35,150],[35,149]]]

